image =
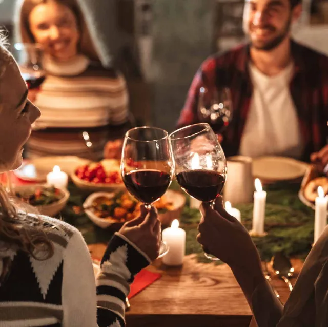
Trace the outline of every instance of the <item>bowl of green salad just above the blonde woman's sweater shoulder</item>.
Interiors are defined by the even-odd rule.
[[[55,216],[62,210],[70,196],[66,189],[46,185],[20,185],[14,189],[16,197],[33,207],[41,215]]]

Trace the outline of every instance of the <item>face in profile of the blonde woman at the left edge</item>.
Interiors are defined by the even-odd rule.
[[[2,57],[0,66],[6,67],[0,74],[0,172],[22,164],[22,148],[40,116],[39,109],[27,100],[28,90],[16,62],[0,47]]]

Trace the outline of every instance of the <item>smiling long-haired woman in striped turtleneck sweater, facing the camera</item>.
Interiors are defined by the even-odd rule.
[[[42,112],[27,156],[103,157],[107,140],[131,128],[124,76],[111,65],[103,32],[86,0],[19,0],[16,40],[44,50],[46,80],[35,104]],[[83,132],[92,146],[86,146]],[[115,144],[115,143],[114,143]]]

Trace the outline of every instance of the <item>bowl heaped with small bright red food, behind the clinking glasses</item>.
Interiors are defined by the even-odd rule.
[[[89,193],[125,189],[120,175],[119,161],[116,159],[105,159],[79,166],[70,177],[77,187]]]

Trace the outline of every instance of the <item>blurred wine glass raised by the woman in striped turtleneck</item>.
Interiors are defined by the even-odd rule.
[[[34,43],[16,43],[13,54],[28,89],[38,89],[46,78],[42,48]]]

